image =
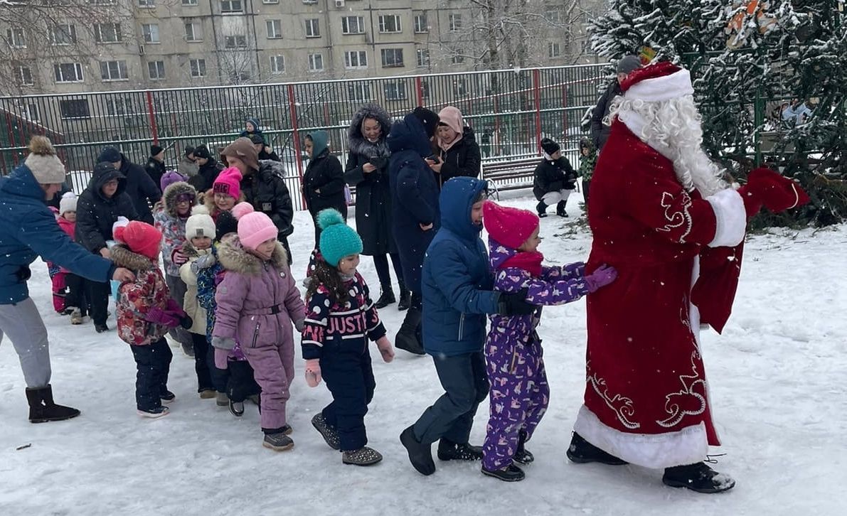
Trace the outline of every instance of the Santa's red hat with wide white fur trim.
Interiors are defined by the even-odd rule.
[[[665,102],[681,96],[693,95],[691,74],[686,69],[662,61],[637,69],[621,83],[623,97],[627,100]]]

